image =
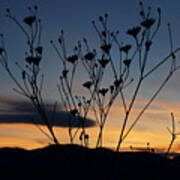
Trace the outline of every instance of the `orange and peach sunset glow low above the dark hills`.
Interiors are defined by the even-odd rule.
[[[129,117],[128,127],[137,117],[138,112],[140,112],[145,101],[146,99],[142,97],[140,97],[140,101],[137,101],[136,106]],[[151,148],[155,148],[157,151],[165,151],[171,140],[171,135],[166,129],[167,127],[171,127],[170,112],[174,112],[175,120],[177,121],[177,131],[180,130],[178,127],[178,114],[180,114],[178,102],[164,102],[157,100],[146,111],[136,124],[135,128],[125,139],[122,144],[122,150],[129,150],[130,146],[146,148],[147,142],[149,142]],[[112,106],[103,131],[104,147],[115,149],[120,135],[123,116],[124,111],[122,107]],[[92,112],[89,113],[89,118],[93,118]],[[41,128],[48,132],[46,127],[41,126]],[[60,143],[67,144],[70,142],[68,128],[55,127],[54,131]],[[86,131],[90,137],[90,147],[95,147],[98,136],[98,126],[87,128]],[[74,141],[76,144],[80,144],[78,137],[79,135],[77,134]],[[22,147],[25,149],[34,149],[44,147],[49,143],[51,143],[50,140],[33,124],[0,124],[0,147]],[[178,138],[171,151],[180,152],[180,141]]]

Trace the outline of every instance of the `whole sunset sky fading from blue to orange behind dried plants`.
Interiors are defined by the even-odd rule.
[[[42,19],[43,32],[42,44],[44,47],[43,61],[41,64],[42,73],[45,75],[44,97],[48,103],[53,103],[60,98],[56,84],[62,70],[59,59],[50,45],[50,40],[56,41],[60,30],[63,29],[66,37],[66,44],[69,53],[78,40],[86,37],[91,47],[98,45],[97,34],[92,27],[91,21],[98,21],[100,15],[109,14],[109,25],[112,30],[119,29],[119,40],[130,41],[126,31],[140,23],[139,1],[136,0],[1,0],[0,1],[0,32],[4,34],[6,49],[8,51],[9,62],[13,72],[18,75],[18,70],[14,65],[16,61],[24,61],[25,38],[18,27],[6,17],[6,9],[10,8],[20,21],[28,14],[27,7],[37,5],[39,7],[39,16]],[[145,8],[152,6],[152,13],[157,17],[156,9],[162,9],[162,24],[158,36],[154,40],[154,45],[150,55],[151,66],[169,54],[169,37],[167,24],[171,23],[174,49],[180,47],[180,14],[179,0],[144,0]],[[117,51],[113,50],[114,57],[118,57]],[[180,58],[177,54],[177,60]],[[152,60],[151,60],[152,59]],[[167,66],[163,66],[157,73],[150,76],[142,87],[138,96],[135,109],[132,111],[130,120],[137,115],[137,112],[143,107],[144,102],[151,96],[152,92],[158,87],[159,83],[165,78]],[[135,69],[133,69],[135,71]],[[17,117],[20,113],[31,112],[28,102],[24,97],[13,91],[14,83],[8,77],[7,73],[0,66],[0,147],[19,146],[28,149],[47,145],[49,140],[30,123],[20,123]],[[86,75],[83,71],[77,75],[78,82],[75,86],[77,93],[86,93],[79,88],[80,84],[86,81]],[[150,142],[154,148],[166,148],[170,142],[170,134],[167,127],[171,126],[170,113],[173,112],[176,119],[177,131],[180,131],[180,70],[174,74],[158,98],[153,102],[147,112],[140,119],[134,130],[123,143],[123,147],[130,145],[135,147],[146,147]],[[108,78],[106,81],[110,81]],[[105,84],[107,83],[105,82]],[[133,85],[132,87],[133,88]],[[131,89],[127,94],[130,95]],[[129,97],[129,96],[128,96]],[[20,106],[23,108],[21,109]],[[27,108],[26,108],[27,107]],[[29,109],[28,109],[29,108]],[[6,123],[8,113],[13,116],[16,123]],[[107,124],[104,130],[104,145],[114,148],[117,145],[120,128],[122,125],[123,110],[119,99],[116,100],[109,114]],[[22,117],[21,117],[22,118]],[[90,118],[93,119],[92,116]],[[17,123],[19,122],[19,123]],[[130,121],[131,122],[131,121]],[[90,145],[95,145],[97,137],[97,127],[87,129],[90,135]],[[68,129],[56,127],[55,132],[60,142],[69,143]],[[78,141],[77,141],[78,143]],[[174,150],[180,151],[180,140],[177,139]]]

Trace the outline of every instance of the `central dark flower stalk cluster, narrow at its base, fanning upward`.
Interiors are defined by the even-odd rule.
[[[116,67],[111,56],[111,48],[113,46],[114,41],[117,40],[116,37],[119,34],[119,31],[116,31],[114,33],[109,29],[107,24],[107,18],[107,14],[105,14],[104,17],[99,17],[99,21],[102,25],[102,28],[98,28],[96,22],[92,21],[93,27],[95,28],[100,39],[100,58],[97,55],[97,58],[95,58],[94,61],[90,62],[86,61],[86,59],[84,59],[83,56],[81,58],[83,65],[85,69],[87,69],[87,73],[89,74],[89,78],[91,79],[91,82],[93,83],[94,87],[93,93],[90,93],[92,94],[92,96],[94,96],[91,108],[94,112],[96,123],[99,127],[96,147],[101,147],[103,145],[103,129],[115,99],[117,98],[118,94],[122,91],[122,89],[125,86],[129,85],[129,82],[132,82],[128,82],[128,71],[131,63],[131,60],[128,59],[128,53],[131,49],[131,46],[127,45],[124,48],[121,47],[121,52],[125,51],[126,61],[124,62],[124,65],[122,64],[122,62],[120,62],[120,66]],[[85,41],[85,44],[87,44],[87,40]],[[107,74],[107,66],[110,66],[110,69],[113,73],[113,84],[110,84],[108,88],[105,88],[101,86],[102,81],[106,77],[105,75]],[[123,72],[122,66],[124,67]]]

